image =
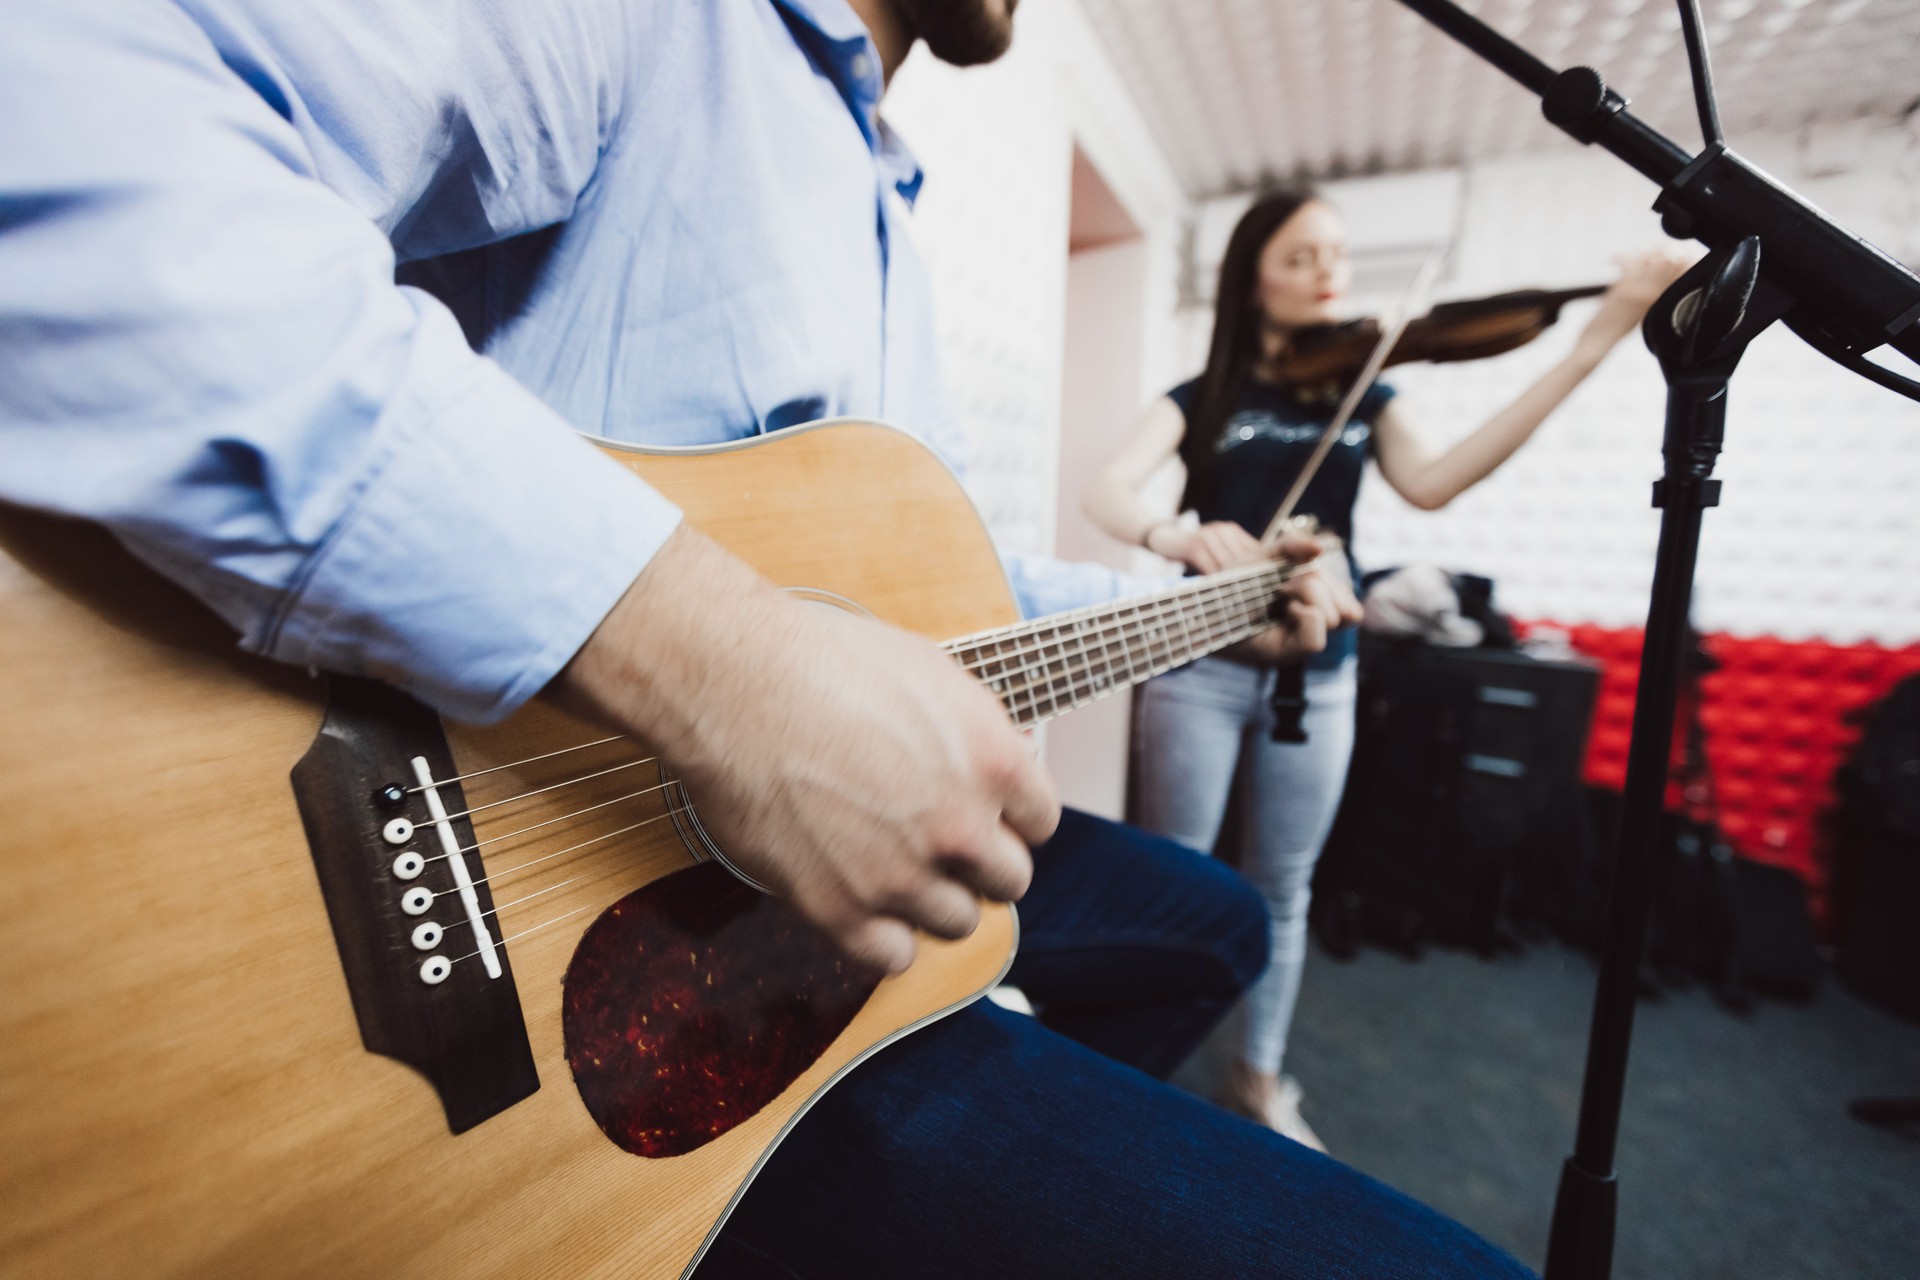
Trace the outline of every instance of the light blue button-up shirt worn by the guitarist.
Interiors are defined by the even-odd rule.
[[[511,712],[680,518],[570,428],[877,416],[964,470],[845,0],[4,21],[0,497],[108,524],[252,651]],[[1133,585],[1010,570],[1031,612]]]

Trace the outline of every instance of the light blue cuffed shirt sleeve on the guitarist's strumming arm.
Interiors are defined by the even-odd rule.
[[[246,649],[493,720],[678,524],[396,288],[173,6],[10,6],[0,119],[0,499],[106,524]]]

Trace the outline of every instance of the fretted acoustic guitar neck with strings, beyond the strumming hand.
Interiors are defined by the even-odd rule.
[[[962,635],[945,649],[1000,697],[1014,723],[1033,727],[1271,628],[1275,595],[1296,572],[1269,560]]]

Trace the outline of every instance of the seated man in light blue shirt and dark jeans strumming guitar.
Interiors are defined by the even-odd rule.
[[[975,1007],[879,1055],[701,1274],[1505,1274],[1112,1061],[1164,1075],[1252,981],[1250,890],[1079,816],[1033,871],[1058,802],[983,689],[781,599],[574,434],[864,415],[958,466],[877,104],[920,35],[998,54],[1012,4],[0,0],[0,497],[109,526],[252,651],[660,743],[876,963],[1035,877],[1021,981],[1081,1044]],[[1033,610],[1125,589],[1010,570]]]

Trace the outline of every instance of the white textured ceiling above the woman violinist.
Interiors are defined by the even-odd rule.
[[[1081,0],[1194,196],[1273,177],[1574,146],[1540,104],[1396,0]],[[1686,150],[1672,0],[1471,0],[1555,67],[1586,63]],[[1728,140],[1920,100],[1920,0],[1703,0]]]

